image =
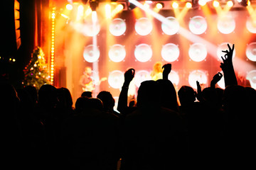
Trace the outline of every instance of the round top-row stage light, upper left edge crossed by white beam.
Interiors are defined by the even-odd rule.
[[[168,19],[169,23],[168,25],[165,23],[161,23],[161,29],[166,35],[174,35],[178,33],[178,30],[180,28],[178,21],[173,16],[169,16],[166,19]]]

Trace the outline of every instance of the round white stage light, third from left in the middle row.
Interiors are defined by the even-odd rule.
[[[152,49],[147,44],[140,44],[135,47],[134,56],[139,62],[147,62],[153,55]]]

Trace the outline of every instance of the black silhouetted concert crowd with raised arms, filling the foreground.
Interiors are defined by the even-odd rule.
[[[255,169],[256,91],[239,86],[233,47],[223,51],[210,87],[168,79],[143,81],[128,103],[135,70],[124,73],[117,111],[109,91],[70,91],[45,84],[14,89],[0,81],[4,169]],[[225,89],[215,88],[221,77]],[[177,95],[178,94],[178,95]],[[179,101],[179,102],[178,102]],[[75,106],[75,107],[73,107]]]

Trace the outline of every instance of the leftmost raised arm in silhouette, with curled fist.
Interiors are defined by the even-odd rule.
[[[128,100],[128,89],[129,84],[134,78],[135,70],[134,69],[128,69],[124,73],[124,84],[122,86],[122,90],[119,94],[118,104],[117,104],[117,111],[122,113],[122,115],[126,115],[128,112],[128,106],[127,106],[127,100]]]

